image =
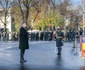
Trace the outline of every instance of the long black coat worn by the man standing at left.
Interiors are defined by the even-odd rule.
[[[28,32],[23,27],[20,28],[19,49],[29,49]]]

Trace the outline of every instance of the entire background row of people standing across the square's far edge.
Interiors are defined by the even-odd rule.
[[[29,33],[29,40],[31,40],[31,41],[39,41],[39,40],[52,41],[52,40],[55,40],[55,33],[56,33],[56,31],[30,32]],[[70,29],[70,30],[64,32],[64,36],[65,36],[66,41],[74,41],[75,36],[82,35],[82,33],[83,33],[82,29],[80,31],[75,31],[74,29]],[[12,40],[17,41],[18,35],[19,34],[17,32],[12,33]],[[0,40],[2,38],[3,38],[3,40],[8,40],[9,34],[6,33],[6,35],[5,35],[4,32],[0,33]]]

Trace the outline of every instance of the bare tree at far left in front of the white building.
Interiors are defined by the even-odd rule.
[[[11,0],[0,0],[0,8],[1,8],[1,17],[0,21],[4,24],[4,31],[6,32],[6,26],[8,23],[9,13],[10,13],[10,7],[12,5]]]

